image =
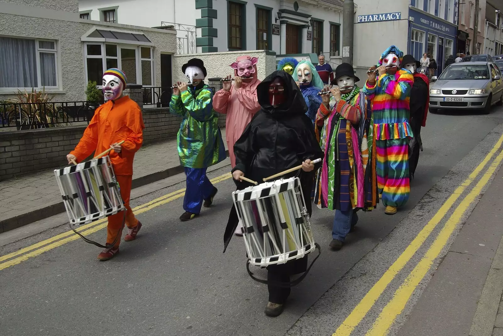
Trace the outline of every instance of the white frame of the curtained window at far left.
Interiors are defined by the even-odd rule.
[[[25,36],[13,36],[13,35],[0,35],[2,37],[8,37],[8,38],[13,38],[13,39],[21,39],[21,40],[33,40],[35,41],[35,64],[36,64],[36,71],[37,71],[37,86],[36,87],[30,87],[30,88],[15,88],[15,87],[5,87],[5,88],[0,88],[0,94],[9,94],[11,92],[17,92],[18,90],[23,90],[23,91],[29,91],[31,89],[37,90],[37,91],[60,91],[61,88],[61,78],[59,76],[60,74],[60,64],[59,64],[59,40],[53,40],[53,39],[46,39],[46,38],[34,38],[34,37],[25,37]],[[39,42],[53,42],[54,43],[54,49],[45,49],[45,48],[40,48],[40,43]],[[56,78],[56,86],[42,86],[42,77],[41,77],[41,63],[40,63],[40,53],[52,53],[54,54],[54,69],[55,69],[55,78]]]

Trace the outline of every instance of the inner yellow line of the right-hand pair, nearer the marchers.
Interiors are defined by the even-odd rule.
[[[372,308],[377,299],[384,292],[389,283],[395,278],[395,276],[400,272],[416,251],[421,247],[421,245],[428,238],[430,233],[435,229],[435,227],[440,223],[442,218],[447,214],[449,209],[453,206],[456,200],[461,196],[465,189],[474,181],[478,174],[482,171],[484,166],[489,162],[489,160],[497,152],[501,143],[503,142],[503,135],[499,138],[496,144],[492,147],[490,152],[485,156],[485,158],[479,163],[475,170],[468,176],[468,178],[456,188],[454,193],[449,196],[442,207],[437,211],[433,218],[425,225],[425,227],[417,234],[417,236],[412,240],[412,242],[405,248],[400,257],[384,272],[383,276],[372,286],[372,288],[365,294],[363,299],[357,304],[355,309],[346,317],[343,323],[337,328],[336,332],[332,336],[349,336],[351,332],[356,328],[356,326],[362,321],[362,319],[367,315],[369,310]]]

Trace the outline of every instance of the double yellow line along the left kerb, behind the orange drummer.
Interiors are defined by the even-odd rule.
[[[221,181],[227,180],[231,178],[232,175],[230,173],[221,175],[219,177],[216,177],[214,179],[211,179],[211,183],[216,184]],[[174,201],[176,199],[179,199],[185,195],[185,189],[180,189],[177,190],[173,193],[163,195],[159,198],[156,198],[150,202],[147,202],[145,204],[139,205],[135,208],[133,208],[133,212],[135,215],[139,215],[145,211],[151,210],[155,207],[158,207],[160,205],[166,204],[168,202]],[[79,231],[80,234],[82,235],[89,235],[91,233],[94,233],[98,230],[101,230],[103,228],[107,227],[107,219],[100,219],[95,222],[82,225],[76,231]],[[54,237],[42,240],[36,244],[30,245],[28,247],[22,248],[20,250],[17,250],[13,253],[10,253],[5,256],[0,256],[0,270],[6,269],[8,267],[18,265],[30,258],[36,257],[38,255],[41,255],[42,253],[53,249],[55,247],[61,246],[63,244],[66,244],[67,242],[70,242],[72,240],[78,239],[79,236],[75,234],[72,230],[63,232],[61,234],[58,234]],[[20,257],[17,257],[20,256]],[[17,257],[17,258],[14,258]],[[12,259],[14,258],[14,259]],[[5,262],[4,262],[5,261]],[[3,262],[3,263],[2,263]]]

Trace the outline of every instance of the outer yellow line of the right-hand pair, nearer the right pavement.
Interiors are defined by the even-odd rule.
[[[451,234],[454,232],[458,223],[461,221],[461,218],[465,214],[466,210],[479,196],[482,189],[487,185],[502,159],[503,150],[491,163],[487,172],[482,176],[476,186],[456,207],[456,210],[454,210],[451,217],[449,217],[435,241],[426,251],[424,257],[421,258],[420,262],[417,263],[412,272],[410,272],[407,278],[396,290],[393,298],[388,302],[388,304],[386,304],[372,327],[367,331],[366,336],[384,336],[388,334],[389,327],[395,321],[396,316],[403,311],[403,308],[405,308],[412,292],[415,290],[417,285],[419,285],[421,280],[423,280],[428,271],[430,271],[433,262],[447,244],[447,241],[451,237]]]

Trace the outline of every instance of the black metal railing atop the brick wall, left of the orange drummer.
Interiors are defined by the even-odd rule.
[[[93,118],[104,102],[0,103],[0,127],[18,130],[70,126]]]

